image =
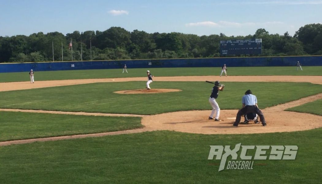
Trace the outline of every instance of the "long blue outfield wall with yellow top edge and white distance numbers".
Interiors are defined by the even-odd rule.
[[[173,67],[228,67],[240,66],[322,66],[322,56],[288,57],[234,57],[198,59],[152,59],[152,60],[115,60],[115,61],[74,61],[40,63],[0,63],[0,73],[56,70],[118,69],[124,64],[128,68],[173,68]]]

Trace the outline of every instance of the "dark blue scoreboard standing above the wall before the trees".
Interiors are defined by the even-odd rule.
[[[239,56],[241,54],[258,55],[261,54],[261,38],[249,40],[221,40],[221,56]]]

